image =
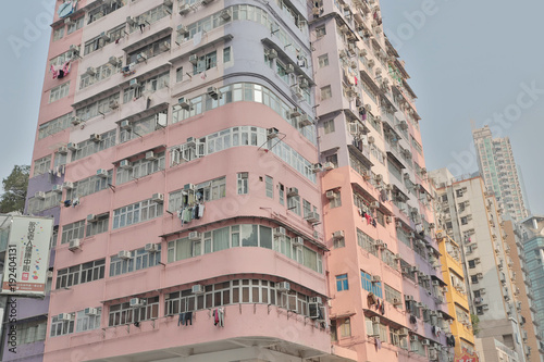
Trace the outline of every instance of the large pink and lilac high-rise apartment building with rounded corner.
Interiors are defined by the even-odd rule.
[[[58,225],[44,361],[453,357],[378,2],[55,7],[27,201]]]

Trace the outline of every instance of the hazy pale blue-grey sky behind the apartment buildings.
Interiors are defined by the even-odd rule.
[[[11,1],[2,12],[0,178],[29,164],[54,0]],[[382,1],[385,33],[418,95],[426,166],[477,171],[471,126],[510,137],[531,209],[544,213],[544,2]]]

